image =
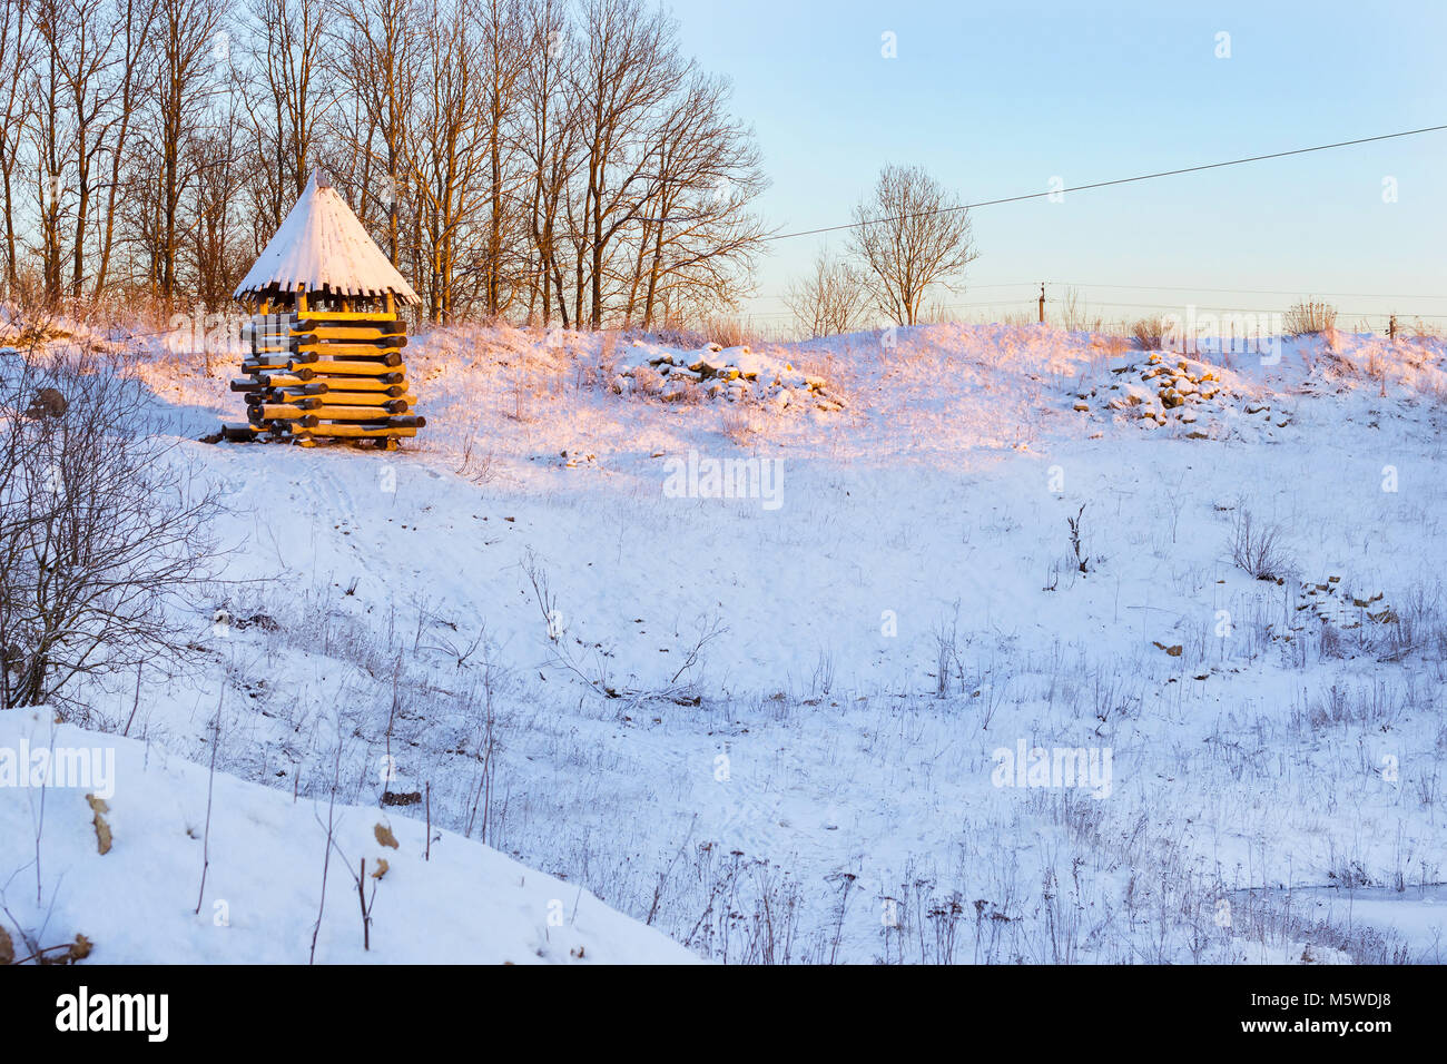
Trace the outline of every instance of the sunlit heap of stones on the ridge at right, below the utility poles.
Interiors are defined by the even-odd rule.
[[[1289,424],[1285,415],[1273,418],[1269,404],[1250,401],[1229,388],[1220,371],[1205,362],[1150,352],[1145,358],[1117,359],[1110,372],[1111,384],[1075,394],[1074,410],[1111,411],[1142,428],[1179,424],[1188,428],[1188,439],[1218,434],[1220,426],[1213,415],[1236,410],[1239,404],[1247,414],[1265,414],[1281,428]]]

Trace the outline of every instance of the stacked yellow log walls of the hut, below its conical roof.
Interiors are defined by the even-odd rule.
[[[407,323],[394,313],[311,311],[255,314],[242,326],[247,424],[224,426],[226,439],[375,440],[386,450],[417,436],[402,349]]]

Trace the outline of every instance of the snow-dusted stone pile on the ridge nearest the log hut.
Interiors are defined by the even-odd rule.
[[[718,343],[684,352],[635,342],[612,379],[612,389],[618,395],[657,395],[664,402],[722,400],[760,402],[778,411],[844,408],[844,400],[829,391],[822,376],[748,347]]]

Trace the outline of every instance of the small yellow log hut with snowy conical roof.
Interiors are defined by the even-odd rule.
[[[395,450],[427,420],[415,413],[401,305],[417,292],[368,236],[327,177],[297,206],[233,294],[242,324],[245,424],[227,440],[372,442]]]

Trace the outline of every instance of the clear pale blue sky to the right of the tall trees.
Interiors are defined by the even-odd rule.
[[[773,182],[758,207],[780,232],[849,221],[886,162],[922,165],[969,203],[1447,123],[1447,3],[1428,0],[664,6],[686,49],[732,80]],[[1415,313],[1443,327],[1444,164],[1447,130],[983,207],[981,256],[938,301],[984,320],[1033,313],[1048,281],[1052,300],[1075,285],[1121,318],[1281,311],[1301,294],[1343,324]],[[771,245],[744,313],[787,326],[778,297],[845,240]]]

